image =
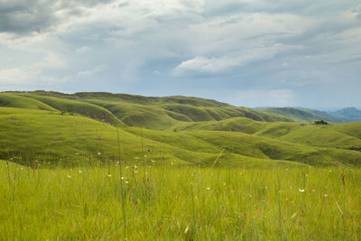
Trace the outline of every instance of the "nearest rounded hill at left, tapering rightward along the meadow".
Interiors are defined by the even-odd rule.
[[[142,165],[143,160],[144,162],[154,160],[159,164],[208,165],[221,151],[221,148],[216,147],[212,150],[208,150],[207,147],[188,150],[171,144],[171,138],[156,141],[147,138],[145,133],[141,138],[140,129],[130,128],[134,132],[132,134],[129,128],[119,130],[121,154],[125,162]],[[157,133],[160,136],[173,134]],[[118,160],[116,136],[115,126],[87,117],[0,107],[0,159],[3,160],[27,165],[40,162],[42,165],[47,165],[47,162],[51,164],[61,162],[64,165],[116,162]],[[270,160],[236,153],[224,153],[220,159],[227,165],[239,165],[245,162],[253,162],[257,165],[273,163]]]

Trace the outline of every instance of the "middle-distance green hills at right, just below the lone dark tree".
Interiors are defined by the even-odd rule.
[[[241,132],[293,144],[345,150],[361,149],[361,123],[304,125],[288,122],[258,122],[249,118],[236,117],[218,122],[209,121],[183,125],[178,130]]]

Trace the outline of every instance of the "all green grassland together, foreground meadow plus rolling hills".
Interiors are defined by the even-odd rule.
[[[361,123],[0,93],[0,240],[360,240],[360,150]]]

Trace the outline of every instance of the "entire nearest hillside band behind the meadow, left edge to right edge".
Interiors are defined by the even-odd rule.
[[[117,158],[116,127],[113,125],[83,116],[40,110],[2,107],[0,113],[2,159],[18,158],[14,162],[30,165],[36,160],[71,165],[113,162]],[[361,161],[361,152],[292,144],[256,134],[155,131],[134,127],[121,127],[119,131],[122,158],[126,162],[154,160],[208,165],[222,150],[220,160],[227,166],[272,160],[321,165]]]

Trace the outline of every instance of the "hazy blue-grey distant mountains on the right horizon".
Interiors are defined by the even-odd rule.
[[[258,111],[285,116],[295,122],[311,123],[315,120],[325,120],[332,123],[361,121],[361,110],[347,107],[334,112],[325,112],[301,107],[257,107]]]

